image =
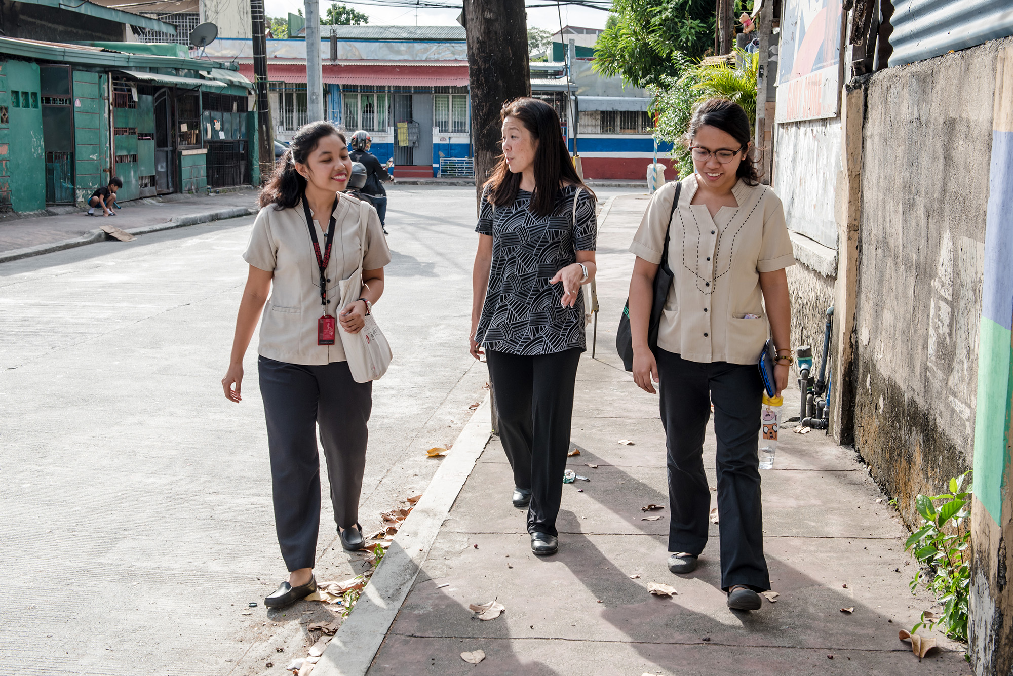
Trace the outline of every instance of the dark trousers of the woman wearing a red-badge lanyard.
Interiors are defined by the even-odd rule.
[[[356,383],[346,361],[320,366],[257,360],[267,420],[275,528],[289,571],[313,568],[320,527],[320,458],[327,458],[334,521],[359,522],[373,384]]]

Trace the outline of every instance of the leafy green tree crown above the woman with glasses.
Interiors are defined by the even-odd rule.
[[[614,0],[595,46],[595,69],[636,87],[682,74],[714,45],[713,0]]]

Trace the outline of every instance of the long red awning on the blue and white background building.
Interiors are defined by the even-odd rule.
[[[239,72],[253,79],[253,65],[240,64]],[[267,64],[271,82],[306,82],[304,64]],[[466,87],[467,66],[359,66],[323,65],[327,84],[400,85],[415,87]]]

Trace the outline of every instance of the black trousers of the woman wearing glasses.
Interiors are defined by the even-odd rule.
[[[710,489],[703,469],[703,439],[713,402],[721,587],[770,589],[757,457],[760,371],[753,364],[688,361],[658,349],[657,372],[669,449],[669,552],[699,556],[707,543]]]

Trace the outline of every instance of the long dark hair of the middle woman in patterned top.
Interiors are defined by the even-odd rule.
[[[559,115],[551,105],[541,99],[527,96],[515,98],[503,103],[499,111],[499,121],[502,122],[508,116],[520,120],[538,142],[535,151],[535,196],[530,206],[532,212],[542,217],[552,213],[556,205],[560,181],[578,185],[592,195],[595,194],[583,184],[573,169],[573,161],[566,150],[566,142],[559,129]],[[513,204],[520,186],[521,174],[513,173],[506,166],[506,158],[500,155],[499,162],[490,172],[489,180],[485,181],[483,187],[486,199],[496,206]]]

